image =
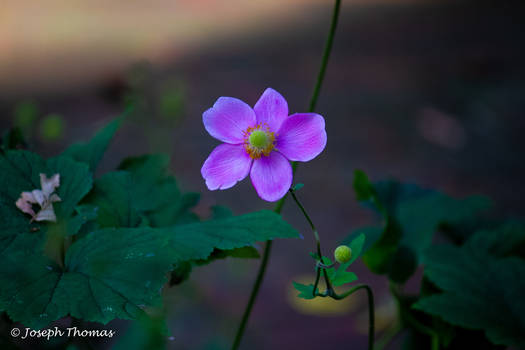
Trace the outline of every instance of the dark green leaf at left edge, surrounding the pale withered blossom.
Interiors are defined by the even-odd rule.
[[[60,174],[57,194],[61,202],[53,204],[57,224],[69,220],[77,203],[91,189],[92,178],[85,164],[69,158],[56,157],[44,161],[28,151],[8,151],[0,154],[0,252],[21,233],[44,232],[52,223],[31,223],[30,216],[20,211],[16,200],[24,191],[41,189],[40,173],[50,177]]]

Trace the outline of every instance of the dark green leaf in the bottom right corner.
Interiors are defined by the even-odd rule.
[[[425,275],[443,293],[414,307],[467,329],[484,330],[495,344],[525,346],[525,262],[496,259],[483,247],[435,246],[424,255]]]

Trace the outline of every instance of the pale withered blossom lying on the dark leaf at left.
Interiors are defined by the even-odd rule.
[[[20,198],[16,201],[16,206],[24,213],[31,215],[31,221],[56,222],[57,218],[53,209],[53,203],[60,202],[61,199],[53,192],[60,186],[60,175],[55,174],[48,179],[46,174],[40,174],[40,186],[42,190],[22,192]],[[38,204],[41,208],[37,213],[33,210],[33,204]]]

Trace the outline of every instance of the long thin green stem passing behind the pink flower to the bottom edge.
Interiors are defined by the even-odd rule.
[[[336,0],[334,4],[334,9],[332,12],[332,21],[330,24],[330,31],[326,39],[326,45],[324,48],[323,58],[321,61],[321,67],[319,68],[319,73],[317,74],[317,81],[315,83],[312,97],[310,98],[310,105],[308,108],[309,112],[313,112],[315,110],[317,99],[319,98],[319,93],[321,91],[321,86],[323,85],[323,80],[324,80],[324,76],[326,73],[326,67],[328,65],[328,59],[330,58],[330,52],[332,51],[332,46],[334,42],[334,36],[335,36],[336,28],[337,28],[337,21],[339,18],[340,8],[341,8],[341,0]],[[292,169],[293,169],[293,174],[295,175],[295,172],[297,171],[297,162],[292,162]],[[286,200],[286,195],[279,200],[279,202],[274,208],[274,212],[276,212],[277,214],[281,213],[285,200]],[[239,325],[239,328],[237,329],[237,333],[235,334],[235,340],[232,345],[232,350],[238,349],[241,343],[241,339],[244,334],[244,330],[246,329],[246,324],[248,323],[248,319],[250,318],[250,313],[252,311],[255,300],[257,299],[257,294],[259,293],[259,289],[261,287],[262,280],[264,278],[264,273],[266,272],[266,265],[268,264],[271,248],[272,248],[272,241],[267,241],[266,246],[264,248],[263,260],[261,261],[261,266],[259,267],[259,272],[257,273],[257,278],[255,279],[255,283],[253,285],[253,289],[250,294],[250,299],[248,300],[248,304],[246,305],[246,308],[244,310],[244,314],[242,316],[241,323]]]

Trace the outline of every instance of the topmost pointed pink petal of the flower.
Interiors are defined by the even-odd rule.
[[[288,102],[272,88],[266,89],[253,107],[257,124],[268,125],[270,131],[277,131],[288,117]]]

